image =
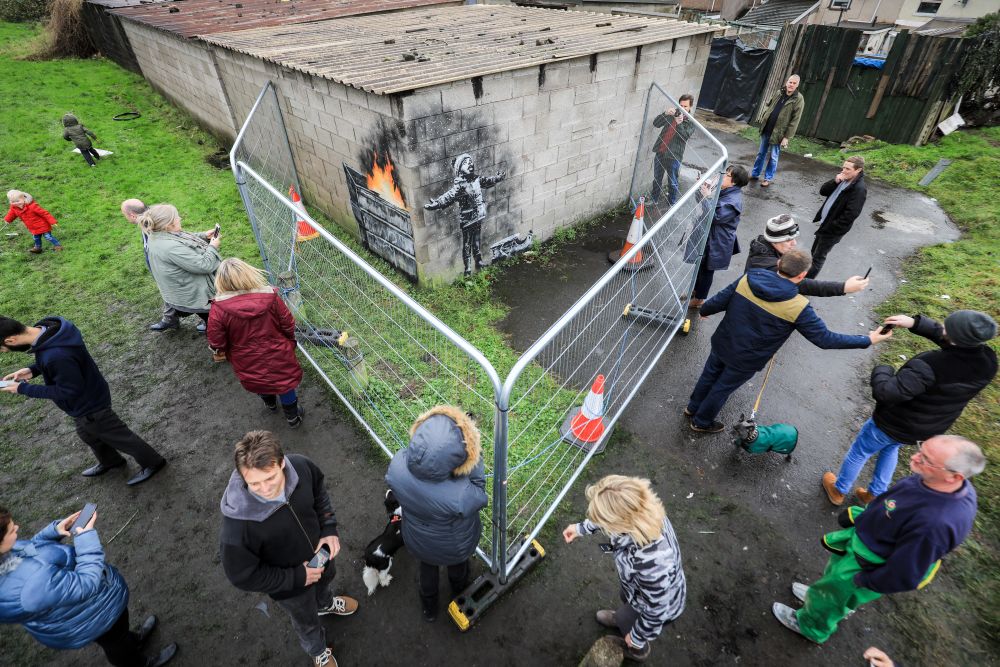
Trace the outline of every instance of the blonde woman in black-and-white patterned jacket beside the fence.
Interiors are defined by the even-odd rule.
[[[643,662],[649,642],[684,611],[687,584],[677,537],[647,479],[608,475],[587,487],[587,500],[587,519],[566,526],[563,539],[568,544],[597,531],[611,539],[601,548],[614,554],[623,604],[598,611],[597,622],[624,636],[616,639],[626,658]]]

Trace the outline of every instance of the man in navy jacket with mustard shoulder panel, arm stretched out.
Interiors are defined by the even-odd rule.
[[[702,317],[721,311],[726,316],[712,335],[712,351],[684,410],[692,431],[722,431],[725,425],[715,418],[730,394],[764,368],[793,331],[824,350],[866,348],[892,335],[876,329],[851,336],[827,329],[799,294],[810,263],[808,252],[790,250],[778,261],[777,273],[751,269],[701,307]]]

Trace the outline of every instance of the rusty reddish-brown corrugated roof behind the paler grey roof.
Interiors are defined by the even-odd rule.
[[[112,14],[182,37],[358,16],[461,0],[163,0],[111,6]]]

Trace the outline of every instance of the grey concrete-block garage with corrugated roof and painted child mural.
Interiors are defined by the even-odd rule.
[[[438,4],[193,39],[116,11],[146,78],[222,135],[273,81],[306,202],[421,281],[620,204],[650,84],[699,90],[719,30]]]

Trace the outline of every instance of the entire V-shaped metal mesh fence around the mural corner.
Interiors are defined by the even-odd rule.
[[[679,105],[654,84],[630,189],[648,231],[504,382],[472,344],[285,196],[290,186],[298,191],[298,177],[272,84],[236,138],[233,173],[270,281],[295,314],[299,349],[378,445],[389,455],[405,447],[410,425],[438,403],[476,418],[492,499],[478,554],[500,586],[684,324],[727,154],[685,114],[694,129],[678,169],[679,198],[669,205],[666,173],[663,194],[650,199],[662,131],[653,121],[671,108]],[[598,375],[604,394],[595,404],[588,394]],[[567,432],[585,401],[603,425],[589,443]]]

